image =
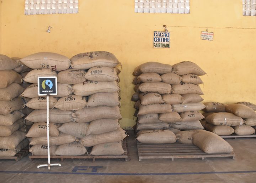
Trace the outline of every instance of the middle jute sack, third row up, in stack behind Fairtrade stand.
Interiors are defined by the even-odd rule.
[[[58,128],[59,131],[65,134],[69,134],[78,138],[83,138],[87,135],[87,127],[89,123],[64,123]]]

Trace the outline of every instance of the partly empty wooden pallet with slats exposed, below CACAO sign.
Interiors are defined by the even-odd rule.
[[[206,154],[193,144],[142,144],[137,141],[139,161],[142,159],[171,159],[176,158],[204,158],[207,157],[231,157],[235,154]]]

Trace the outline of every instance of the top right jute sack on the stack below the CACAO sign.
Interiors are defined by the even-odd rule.
[[[191,61],[182,61],[174,64],[172,68],[172,72],[180,76],[184,74],[196,74],[198,76],[206,74],[197,64]]]

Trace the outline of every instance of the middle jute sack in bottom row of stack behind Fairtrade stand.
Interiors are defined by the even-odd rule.
[[[59,145],[55,151],[60,156],[80,156],[87,152],[85,146],[79,142],[70,142],[68,144]]]

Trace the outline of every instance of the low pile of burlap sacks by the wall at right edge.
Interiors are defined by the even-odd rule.
[[[204,103],[204,128],[217,135],[252,135],[256,126],[256,105],[250,102],[223,104],[219,102]]]

